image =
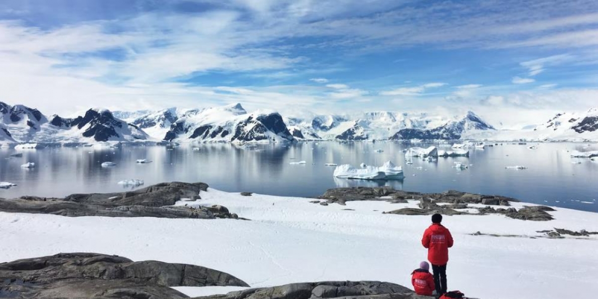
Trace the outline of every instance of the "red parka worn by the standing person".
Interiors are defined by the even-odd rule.
[[[449,262],[449,247],[453,247],[453,236],[440,223],[433,223],[423,233],[422,245],[428,248],[428,261],[442,266]]]

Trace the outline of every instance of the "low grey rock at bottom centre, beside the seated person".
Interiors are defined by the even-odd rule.
[[[416,295],[411,289],[390,282],[306,282],[271,288],[246,289],[226,295],[196,299],[324,299],[324,298],[434,298]]]

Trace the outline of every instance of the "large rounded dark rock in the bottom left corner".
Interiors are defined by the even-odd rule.
[[[188,298],[169,286],[249,286],[189,264],[67,253],[0,264],[2,298]]]

